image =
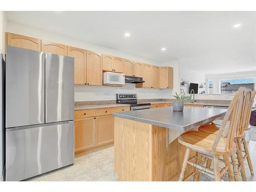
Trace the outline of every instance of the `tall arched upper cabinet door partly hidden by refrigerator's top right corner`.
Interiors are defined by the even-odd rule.
[[[68,46],[68,56],[75,58],[75,84],[86,84],[86,50]]]

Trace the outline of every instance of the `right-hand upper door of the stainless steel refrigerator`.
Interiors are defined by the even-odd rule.
[[[46,53],[46,123],[74,119],[74,58]]]

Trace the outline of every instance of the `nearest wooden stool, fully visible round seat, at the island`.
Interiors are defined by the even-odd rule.
[[[179,181],[185,181],[192,176],[194,176],[194,181],[197,181],[199,180],[199,172],[215,178],[215,181],[221,181],[221,176],[227,172],[229,180],[234,180],[228,156],[233,156],[236,152],[236,144],[233,141],[239,125],[244,92],[245,88],[240,88],[229,104],[218,134],[188,131],[178,138],[179,143],[186,146]],[[228,120],[229,124],[226,126]],[[191,151],[195,151],[196,156],[190,157]],[[203,163],[200,163],[199,157],[201,154],[212,158],[214,169],[203,166],[207,158],[205,158]],[[225,167],[221,170],[219,167],[220,156],[223,156],[225,162]],[[187,164],[194,166],[195,171],[185,177]]]

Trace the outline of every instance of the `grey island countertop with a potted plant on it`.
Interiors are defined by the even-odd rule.
[[[113,116],[153,124],[169,129],[187,131],[225,115],[226,109],[184,106],[183,112],[170,107],[113,113]]]

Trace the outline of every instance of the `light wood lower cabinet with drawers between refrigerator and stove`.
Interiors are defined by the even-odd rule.
[[[75,111],[75,154],[114,143],[112,113],[130,111],[130,106]]]

